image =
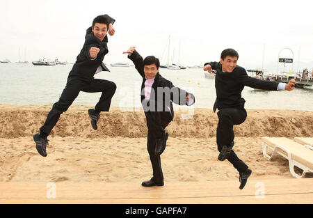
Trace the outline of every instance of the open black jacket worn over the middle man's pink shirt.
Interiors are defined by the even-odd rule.
[[[145,100],[145,72],[144,72],[144,65],[143,65],[143,57],[136,51],[134,51],[131,56],[128,56],[131,61],[133,61],[135,68],[143,77],[143,83],[141,84],[141,102]],[[158,89],[159,88],[159,89]],[[161,89],[160,89],[161,88]],[[154,83],[152,84],[153,91],[150,94],[150,102],[153,100],[155,104],[155,109],[160,111],[161,117],[168,117],[170,120],[174,118],[174,110],[172,108],[172,102],[179,105],[187,105],[186,103],[186,96],[188,94],[191,95],[193,102],[195,102],[195,96],[191,93],[188,93],[180,88],[175,87],[171,81],[163,78],[159,72],[154,78]],[[162,93],[158,93],[162,91]],[[162,101],[158,100],[158,95],[162,95]],[[144,107],[145,109],[145,107]]]

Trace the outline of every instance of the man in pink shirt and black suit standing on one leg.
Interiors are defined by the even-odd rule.
[[[145,187],[162,186],[163,172],[160,155],[166,148],[168,133],[164,130],[174,118],[172,102],[179,105],[192,105],[195,97],[191,93],[172,85],[172,82],[159,74],[159,59],[147,56],[145,60],[130,47],[124,54],[134,62],[143,83],[141,85],[141,104],[147,120],[147,150],[152,164],[153,177],[144,181]]]

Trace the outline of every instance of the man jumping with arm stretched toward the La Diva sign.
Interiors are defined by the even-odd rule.
[[[296,81],[291,79],[289,84],[266,81],[249,77],[244,68],[237,64],[239,54],[234,49],[225,49],[220,55],[220,62],[204,64],[204,71],[216,70],[215,88],[216,102],[214,112],[218,109],[218,127],[216,143],[220,155],[218,159],[227,159],[239,171],[240,189],[246,185],[247,179],[252,173],[248,166],[236,156],[234,146],[234,125],[239,125],[246,120],[247,111],[244,108],[245,100],[241,98],[244,86],[265,89],[270,91],[294,89]]]

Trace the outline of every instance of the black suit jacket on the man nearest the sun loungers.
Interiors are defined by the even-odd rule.
[[[216,70],[216,102],[214,104],[214,112],[216,108],[244,108],[246,100],[241,98],[241,92],[245,86],[277,91],[278,82],[249,77],[246,70],[239,65],[237,65],[232,72],[223,72],[220,62],[209,62],[204,65],[207,64],[211,65],[213,70]]]

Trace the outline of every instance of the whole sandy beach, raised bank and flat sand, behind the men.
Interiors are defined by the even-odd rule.
[[[0,104],[0,182],[138,182],[150,179],[147,127],[142,111],[113,108],[102,113],[98,130],[90,126],[87,106],[74,106],[51,132],[47,157],[41,157],[33,134],[51,106]],[[216,125],[209,109],[195,109],[193,118],[175,113],[161,156],[165,182],[238,180],[229,162],[218,161]],[[234,150],[252,169],[251,178],[293,178],[287,159],[262,155],[261,137],[312,137],[313,111],[248,110],[235,126]],[[312,174],[307,173],[307,178]]]

